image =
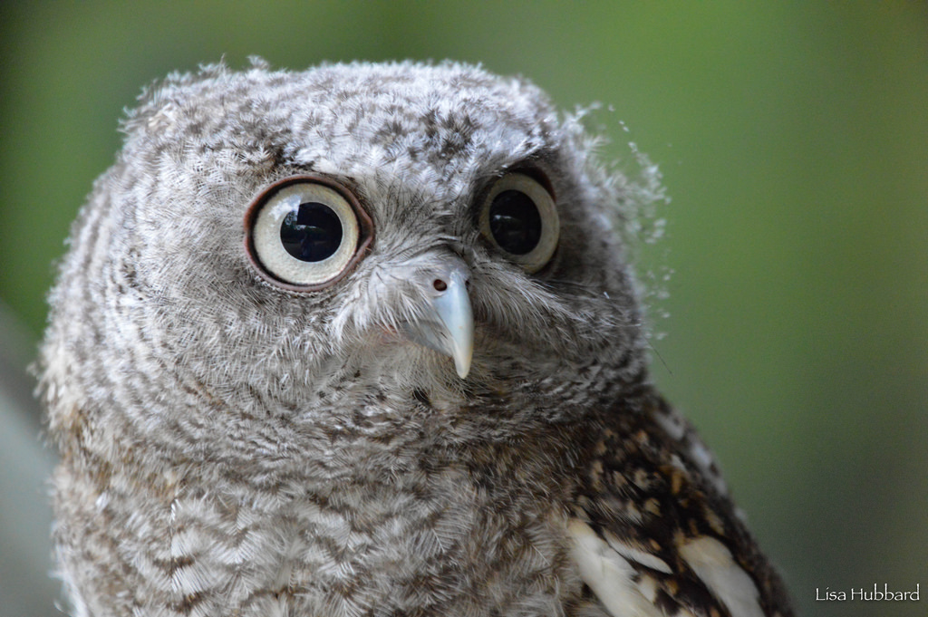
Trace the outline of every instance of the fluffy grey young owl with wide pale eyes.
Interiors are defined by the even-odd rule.
[[[40,360],[71,614],[793,614],[649,380],[639,192],[535,85],[254,60],[122,131]]]

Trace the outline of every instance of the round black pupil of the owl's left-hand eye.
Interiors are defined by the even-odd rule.
[[[342,244],[342,222],[324,203],[301,203],[280,224],[284,249],[301,262],[321,262]]]

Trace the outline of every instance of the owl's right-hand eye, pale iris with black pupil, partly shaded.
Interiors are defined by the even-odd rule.
[[[561,227],[548,189],[531,176],[507,174],[483,201],[480,231],[510,261],[533,273],[548,264]]]

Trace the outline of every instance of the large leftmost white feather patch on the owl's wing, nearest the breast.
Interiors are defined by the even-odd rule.
[[[664,611],[654,606],[656,589],[650,577],[643,576],[640,583],[633,581],[635,569],[628,560],[584,521],[572,519],[567,532],[574,541],[571,557],[580,570],[580,578],[612,617],[664,617]],[[677,615],[692,617],[687,611]]]

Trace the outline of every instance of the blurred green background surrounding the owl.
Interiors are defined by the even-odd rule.
[[[594,118],[605,154],[630,160],[634,141],[672,198],[668,237],[639,264],[674,271],[652,309],[670,315],[654,319],[655,379],[715,449],[802,613],[928,614],[926,6],[6,0],[0,614],[57,612],[49,458],[19,368],[50,264],[141,86],[252,54],[291,69],[458,58],[522,73],[566,109],[614,109]],[[884,583],[925,596],[815,601]]]

